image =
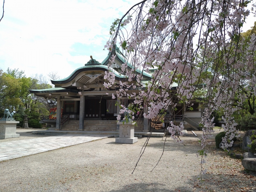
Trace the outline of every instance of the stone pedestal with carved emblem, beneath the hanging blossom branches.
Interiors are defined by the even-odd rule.
[[[138,137],[134,137],[134,124],[135,122],[117,122],[117,125],[119,125],[119,137],[116,138],[116,143],[132,144],[138,141]]]

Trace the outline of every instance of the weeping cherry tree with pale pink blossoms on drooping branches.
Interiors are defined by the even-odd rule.
[[[253,87],[253,94],[256,93],[256,36],[252,34],[247,41],[241,36],[243,24],[250,13],[247,9],[249,2],[143,0],[132,6],[121,19],[115,20],[105,48],[111,51],[119,43],[127,62],[132,64],[130,70],[127,62],[122,66],[121,73],[127,78],[119,82],[117,97],[134,98],[129,111],[120,106],[120,112],[126,111],[134,116],[147,107],[148,113],[143,116],[152,119],[164,115],[168,106],[175,109],[177,102],[183,102],[186,108],[193,107],[191,100],[202,87],[204,116],[201,123],[204,129],[199,151],[201,163],[204,163],[207,138],[214,126],[213,111],[224,111],[222,118],[227,123],[222,127],[226,132],[226,142],[222,147],[228,150],[233,138],[239,137],[232,115],[242,107],[246,97],[241,92],[236,93],[248,85]],[[110,67],[113,62],[114,58]],[[144,85],[142,76],[135,69],[148,72],[150,68],[156,70],[152,80]],[[107,88],[115,84],[111,70],[105,79],[108,80]],[[175,94],[171,92],[174,82],[178,84]],[[235,101],[235,97],[239,100]],[[182,123],[178,126],[170,122],[167,129],[174,140],[182,143],[175,134],[182,135]],[[202,168],[201,173],[204,172]]]

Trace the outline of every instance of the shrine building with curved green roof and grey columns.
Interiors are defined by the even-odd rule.
[[[112,72],[115,74],[115,85],[106,90],[104,88],[104,75],[108,71],[108,62],[112,55],[116,55],[115,65],[112,66]],[[121,66],[126,61],[125,56],[115,46],[108,56],[101,63],[91,57],[84,66],[77,68],[68,77],[60,80],[52,80],[54,88],[42,90],[29,90],[36,96],[44,98],[55,98],[57,100],[57,116],[56,120],[51,121],[44,119],[42,123],[54,125],[53,130],[67,131],[118,131],[116,124],[116,116],[119,114],[120,108],[116,106],[116,102],[121,102],[122,105],[128,106],[132,100],[128,98],[112,99],[112,94],[116,96],[119,89],[119,81],[124,80]],[[128,69],[132,69],[132,65],[128,62]],[[142,83],[147,83],[152,76],[146,71],[139,69],[135,70],[136,74],[142,75]],[[175,87],[172,88],[175,91]],[[128,91],[129,92],[129,91]],[[130,92],[134,92],[130,90]],[[184,116],[184,124],[187,129],[196,129],[203,110],[200,109],[200,103],[194,103],[194,110],[187,111]],[[179,114],[184,115],[184,109],[181,104],[176,108],[180,108]],[[62,118],[61,118],[61,109]],[[144,112],[147,113],[147,108]],[[167,114],[170,113],[167,110]],[[134,121],[137,121],[136,132],[149,132],[150,120],[134,115]]]

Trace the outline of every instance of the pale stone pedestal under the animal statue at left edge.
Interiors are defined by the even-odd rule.
[[[0,120],[0,139],[20,137],[20,134],[16,134],[17,123],[20,123],[20,122],[10,118],[1,119]]]

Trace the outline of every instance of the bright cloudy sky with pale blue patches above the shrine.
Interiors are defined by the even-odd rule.
[[[10,0],[0,22],[0,69],[60,78],[93,59],[102,62],[109,28],[138,0]],[[3,0],[0,0],[2,16]],[[248,7],[250,9],[250,7]],[[0,16],[0,17],[1,17]],[[249,16],[246,31],[256,18]]]

